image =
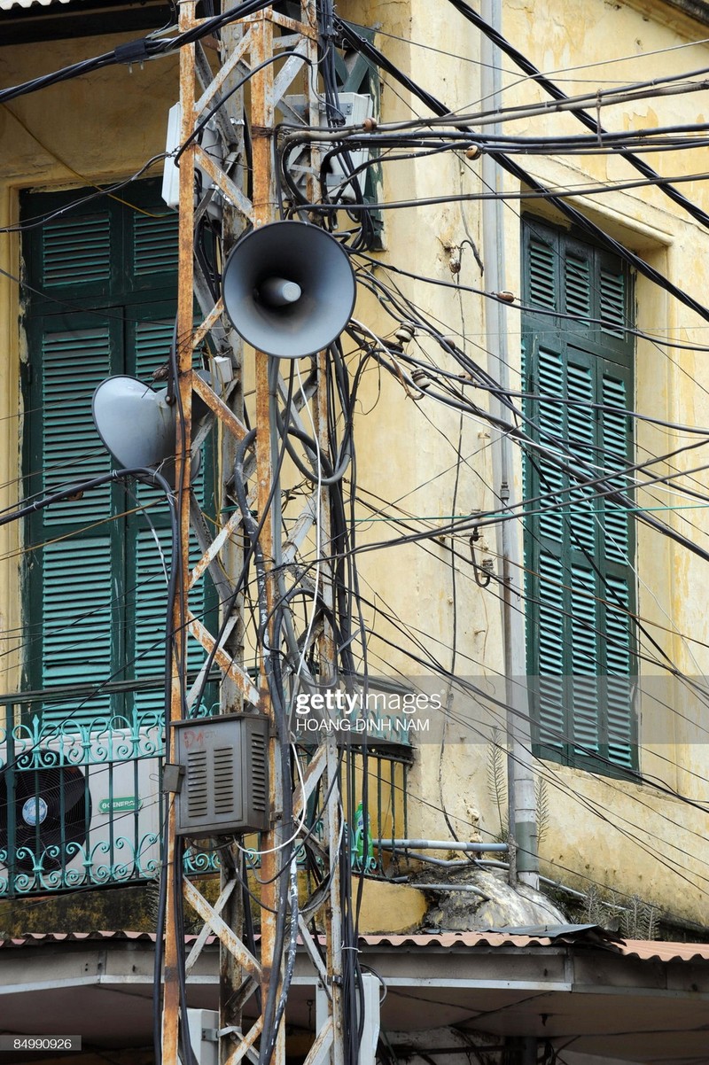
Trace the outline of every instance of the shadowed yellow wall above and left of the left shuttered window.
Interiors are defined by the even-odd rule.
[[[113,49],[122,37],[0,48],[3,87]],[[129,38],[130,39],[130,38]],[[83,187],[129,178],[165,148],[165,114],[179,96],[177,62],[109,67],[0,105],[0,225],[18,220],[23,189]],[[162,173],[162,164],[147,171]],[[0,234],[0,508],[17,498],[21,439],[17,233]],[[0,689],[16,690],[20,592],[19,523],[0,528]]]

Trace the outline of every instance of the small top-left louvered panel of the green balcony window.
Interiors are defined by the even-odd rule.
[[[108,214],[55,219],[42,231],[42,284],[90,284],[111,277],[111,219]]]

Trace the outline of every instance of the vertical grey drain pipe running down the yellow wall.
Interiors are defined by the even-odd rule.
[[[496,30],[501,30],[501,0],[481,0],[480,13]],[[501,104],[500,52],[487,36],[480,48],[482,61],[480,88],[482,106],[499,108]],[[499,133],[497,124],[491,128]],[[502,171],[488,155],[482,155],[482,181],[485,191],[501,191]],[[487,292],[505,289],[505,223],[502,201],[482,201],[482,252],[484,261],[483,286]],[[485,342],[490,353],[490,371],[502,390],[509,390],[509,359],[507,344],[507,308],[501,301],[488,300],[485,306]],[[501,403],[491,396],[494,413],[507,416]],[[510,505],[514,485],[514,455],[512,444],[505,433],[497,435],[493,446],[494,490],[502,508]],[[522,600],[515,590],[522,581],[522,544],[517,522],[500,522],[497,526],[497,552],[500,558],[502,580],[502,630],[507,733],[508,733],[508,800],[510,837],[514,854],[510,861],[510,884],[515,879],[539,887],[539,855],[537,853],[537,809],[534,776],[531,765],[531,735],[529,728],[529,700],[526,678],[525,619]],[[516,859],[516,861],[515,861]],[[516,866],[516,878],[515,878]]]

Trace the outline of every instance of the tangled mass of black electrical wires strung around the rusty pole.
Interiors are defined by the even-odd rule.
[[[454,6],[483,33],[493,37],[495,44],[507,52],[534,82],[544,88],[555,100],[566,100],[548,79],[544,78],[521,53],[516,52],[507,42],[494,33],[490,27],[477,16],[462,0],[451,0]],[[55,75],[44,76],[26,82],[22,85],[0,93],[0,102],[4,102],[34,92],[48,85],[56,84],[70,78],[80,77],[104,66],[121,63],[141,63],[170,54],[179,48],[194,43],[199,37],[218,32],[230,21],[262,10],[263,2],[251,0],[238,9],[219,16],[212,16],[203,21],[199,30],[174,35],[170,37],[145,38],[128,46],[119,46],[112,52],[104,53],[95,60],[76,64]],[[362,267],[359,269],[359,280],[363,288],[378,300],[380,307],[391,316],[393,327],[409,328],[410,335],[423,332],[443,355],[439,362],[455,368],[444,368],[435,360],[425,360],[410,354],[406,343],[385,340],[372,332],[368,327],[353,322],[348,330],[358,361],[352,373],[340,342],[331,345],[325,362],[326,379],[318,387],[325,389],[327,396],[327,445],[323,446],[315,426],[309,428],[302,417],[303,410],[310,410],[312,397],[316,388],[314,370],[306,381],[300,381],[296,390],[294,366],[291,366],[287,389],[282,395],[279,391],[278,366],[271,365],[270,414],[273,439],[269,442],[274,461],[274,484],[270,496],[262,513],[253,511],[253,498],[249,486],[253,481],[252,448],[255,443],[255,430],[250,429],[237,447],[231,493],[234,506],[242,515],[243,528],[246,534],[244,563],[242,572],[233,580],[229,599],[222,604],[227,618],[241,597],[249,602],[254,619],[254,655],[260,652],[264,662],[265,679],[268,688],[270,705],[274,709],[274,720],[278,735],[280,751],[280,774],[283,781],[284,809],[282,820],[282,836],[284,842],[277,854],[276,876],[282,889],[279,892],[279,906],[276,917],[275,957],[276,967],[283,967],[284,978],[279,987],[273,982],[266,1001],[262,1003],[264,1028],[260,1043],[260,1065],[268,1065],[277,1038],[277,1033],[283,1017],[295,965],[295,946],[298,932],[298,919],[303,912],[309,912],[309,903],[323,894],[327,882],[334,875],[330,869],[323,873],[323,862],[313,840],[313,822],[301,821],[296,824],[292,806],[294,786],[298,777],[298,752],[293,740],[292,706],[295,693],[304,688],[316,689],[323,681],[325,662],[318,660],[317,640],[323,633],[331,634],[336,649],[336,669],[339,676],[345,682],[358,676],[362,660],[366,661],[367,642],[372,635],[364,622],[364,610],[370,606],[360,593],[357,560],[363,551],[379,551],[382,542],[360,545],[357,542],[354,509],[358,499],[357,456],[354,447],[354,417],[359,399],[359,389],[364,373],[375,366],[381,368],[397,383],[401,384],[407,395],[417,403],[443,405],[446,408],[471,415],[487,426],[506,433],[522,449],[527,460],[535,469],[542,482],[539,495],[528,497],[520,508],[510,508],[501,512],[500,508],[481,512],[474,518],[451,520],[444,525],[424,530],[407,531],[398,536],[396,544],[423,543],[442,534],[459,535],[463,531],[479,530],[485,525],[495,525],[500,521],[516,521],[521,514],[548,513],[562,510],[574,501],[603,501],[625,511],[636,510],[632,492],[638,486],[647,487],[672,481],[672,477],[653,476],[649,466],[654,463],[669,461],[676,453],[669,452],[664,456],[654,457],[652,463],[608,463],[603,454],[591,454],[589,449],[579,448],[573,440],[560,436],[548,425],[541,423],[524,400],[529,398],[524,390],[512,393],[504,390],[499,382],[487,372],[479,362],[466,351],[465,345],[454,343],[447,335],[431,324],[428,318],[401,293],[391,284],[386,284],[376,276],[375,261],[366,257],[366,252],[377,248],[379,239],[379,223],[377,211],[388,206],[385,201],[377,202],[365,197],[365,180],[369,171],[383,163],[391,165],[396,162],[410,162],[414,159],[427,159],[446,152],[458,152],[467,160],[474,161],[482,153],[490,154],[508,173],[512,174],[532,194],[546,198],[557,210],[565,214],[587,234],[599,242],[604,247],[621,256],[627,263],[644,274],[655,284],[661,285],[685,306],[709,321],[709,310],[697,299],[694,299],[678,285],[671,283],[661,274],[650,267],[641,257],[624,248],[611,240],[598,227],[594,226],[577,209],[564,202],[566,196],[577,195],[573,191],[555,193],[535,181],[520,164],[513,162],[511,155],[540,153],[577,154],[599,152],[622,152],[631,165],[643,175],[643,181],[652,184],[670,196],[676,204],[703,226],[709,226],[709,217],[696,204],[683,197],[667,178],[661,178],[642,160],[637,159],[633,150],[677,150],[693,149],[706,146],[708,138],[704,135],[709,130],[708,124],[695,126],[672,126],[653,130],[639,130],[624,133],[613,133],[604,130],[599,122],[590,118],[578,103],[570,106],[571,113],[581,120],[591,131],[590,136],[576,137],[511,137],[500,134],[483,135],[480,132],[482,124],[475,132],[466,127],[469,116],[451,113],[445,104],[416,85],[412,79],[405,76],[381,51],[365,40],[354,28],[344,22],[334,14],[331,0],[323,0],[317,7],[318,15],[318,69],[324,86],[324,105],[327,128],[296,129],[283,125],[279,130],[277,149],[279,191],[284,194],[281,199],[283,216],[307,217],[313,213],[319,214],[320,220],[331,232],[336,234],[352,256],[359,256]],[[403,87],[413,93],[422,102],[441,119],[435,128],[423,128],[425,124],[417,122],[415,128],[386,129],[376,127],[376,122],[362,129],[347,128],[340,99],[335,52],[336,45],[347,45],[364,56],[376,69],[390,73]],[[270,61],[269,61],[270,62]],[[251,75],[255,71],[251,71]],[[251,76],[250,75],[250,76]],[[247,80],[247,79],[245,79]],[[241,83],[240,83],[241,87]],[[697,83],[697,87],[703,87]],[[637,91],[638,93],[641,89]],[[632,98],[629,94],[627,98]],[[566,101],[568,102],[568,101]],[[573,103],[573,101],[572,101]],[[693,134],[691,137],[688,134]],[[303,182],[298,177],[296,162],[303,149],[311,147],[325,148],[318,174],[319,200],[312,202],[306,194]],[[183,150],[185,145],[182,146]],[[356,163],[354,152],[374,152],[362,163]],[[247,138],[248,152],[248,138]],[[334,180],[333,180],[334,178]],[[198,179],[199,180],[199,179]],[[637,184],[637,183],[636,183]],[[621,184],[613,187],[622,187]],[[203,190],[197,189],[199,199]],[[491,194],[492,195],[492,194]],[[450,201],[454,196],[441,197],[440,201]],[[421,203],[403,201],[401,207]],[[340,230],[341,218],[347,216],[352,223],[348,232]],[[195,258],[205,285],[214,301],[219,295],[221,263],[218,255],[218,227],[209,212],[200,214],[195,234]],[[425,279],[424,279],[425,280]],[[459,288],[459,285],[456,285]],[[489,295],[489,294],[485,294]],[[497,297],[494,297],[497,298]],[[680,345],[681,346],[681,345]],[[351,353],[350,353],[351,354]],[[174,375],[177,373],[174,367]],[[491,415],[485,403],[472,399],[471,390],[478,395],[495,397],[506,412],[505,417]],[[548,397],[545,397],[548,398]],[[551,397],[549,402],[571,402]],[[588,406],[588,405],[586,405]],[[598,413],[622,413],[624,416],[638,416],[625,409],[613,408],[611,405],[596,405]],[[603,410],[600,408],[604,407]],[[689,427],[691,428],[691,427]],[[694,430],[693,430],[694,431]],[[686,450],[687,448],[682,448]],[[287,460],[297,470],[302,479],[302,493],[321,494],[327,498],[330,514],[329,542],[323,543],[317,537],[316,559],[307,563],[295,556],[283,557],[280,544],[280,532],[285,527],[283,514],[284,501],[278,487],[278,477]],[[544,484],[543,471],[547,472]],[[703,468],[702,468],[703,469]],[[567,486],[562,490],[555,488],[548,479],[553,470],[563,474]],[[702,496],[704,498],[704,496]],[[682,536],[666,522],[654,517],[647,511],[638,510],[638,518],[655,531],[671,537],[677,544],[692,551],[704,561],[709,561],[709,552],[693,542],[689,536]],[[275,558],[264,557],[262,550],[262,529],[267,519],[273,520],[277,529],[275,538]],[[317,525],[317,520],[316,520]],[[318,530],[319,531],[319,530]],[[327,550],[326,550],[327,548]],[[324,593],[325,581],[320,580],[321,566],[330,568],[328,583],[331,584],[332,596]],[[490,581],[489,581],[490,584]],[[174,602],[175,589],[170,592],[170,603]],[[529,601],[529,600],[528,600]],[[622,604],[614,604],[621,609]],[[295,616],[299,612],[302,620],[300,635],[296,632]],[[185,653],[182,643],[183,634],[176,634],[171,621],[168,625],[166,653],[168,659],[178,641],[178,662],[184,662]],[[219,644],[224,630],[219,633],[216,645]],[[649,640],[649,634],[645,630]],[[661,649],[658,646],[658,652]],[[208,659],[204,670],[203,687],[211,673],[214,655]],[[666,657],[666,656],[665,656]],[[422,659],[423,660],[423,659]],[[672,668],[672,663],[669,663]],[[366,673],[366,670],[365,670]],[[331,679],[331,678],[329,678]],[[199,704],[200,694],[196,695]],[[504,708],[504,707],[500,707]],[[184,700],[184,712],[189,712]],[[565,738],[565,737],[561,737]],[[364,749],[366,758],[366,748]],[[366,782],[366,768],[363,774]],[[639,779],[640,780],[640,779]],[[642,782],[642,781],[641,781]],[[366,783],[365,783],[366,787]],[[316,793],[314,808],[319,815],[327,804],[329,796]],[[363,798],[366,808],[366,791]],[[306,829],[302,836],[301,830]],[[300,835],[299,835],[300,833]],[[343,826],[339,841],[337,864],[341,882],[341,910],[343,915],[343,1000],[345,1009],[345,1048],[348,1065],[356,1065],[359,1053],[359,1042],[363,1026],[362,1003],[362,971],[357,956],[357,902],[351,894],[351,842],[348,831]],[[225,861],[232,861],[235,874],[238,876],[245,892],[246,912],[248,905],[248,872],[247,855],[243,855],[241,868],[236,868],[233,856],[225,848]],[[301,906],[298,901],[296,869],[297,862],[306,864],[314,883],[311,898]],[[252,872],[252,870],[251,870]],[[178,933],[184,928],[182,913],[181,876],[183,864],[181,855],[177,854],[171,874],[175,876],[176,924]],[[360,882],[361,884],[361,882]],[[285,886],[287,885],[287,886]],[[162,922],[165,919],[164,902],[159,918],[159,940]],[[247,937],[251,935],[247,931]],[[180,937],[182,944],[184,937]],[[184,958],[181,960],[182,969]],[[156,1001],[160,992],[160,966],[156,965]],[[186,1004],[184,979],[181,981],[181,998]],[[183,1009],[186,1017],[186,1009]],[[156,1031],[156,1043],[160,1033]],[[188,1046],[186,1030],[183,1032],[183,1043]]]

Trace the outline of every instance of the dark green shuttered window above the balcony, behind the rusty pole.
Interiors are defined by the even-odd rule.
[[[131,206],[102,197],[64,212],[81,197],[22,201],[28,222],[62,212],[30,228],[23,245],[28,496],[111,470],[92,417],[94,390],[114,374],[151,383],[172,340],[177,216],[152,182],[130,186]],[[210,461],[202,464],[209,472]],[[203,482],[197,491],[204,503]],[[170,566],[162,493],[106,485],[38,511],[26,541],[26,683],[86,686],[81,698],[48,701],[45,718],[131,720],[162,710]],[[211,605],[203,589],[191,597],[198,615]]]

